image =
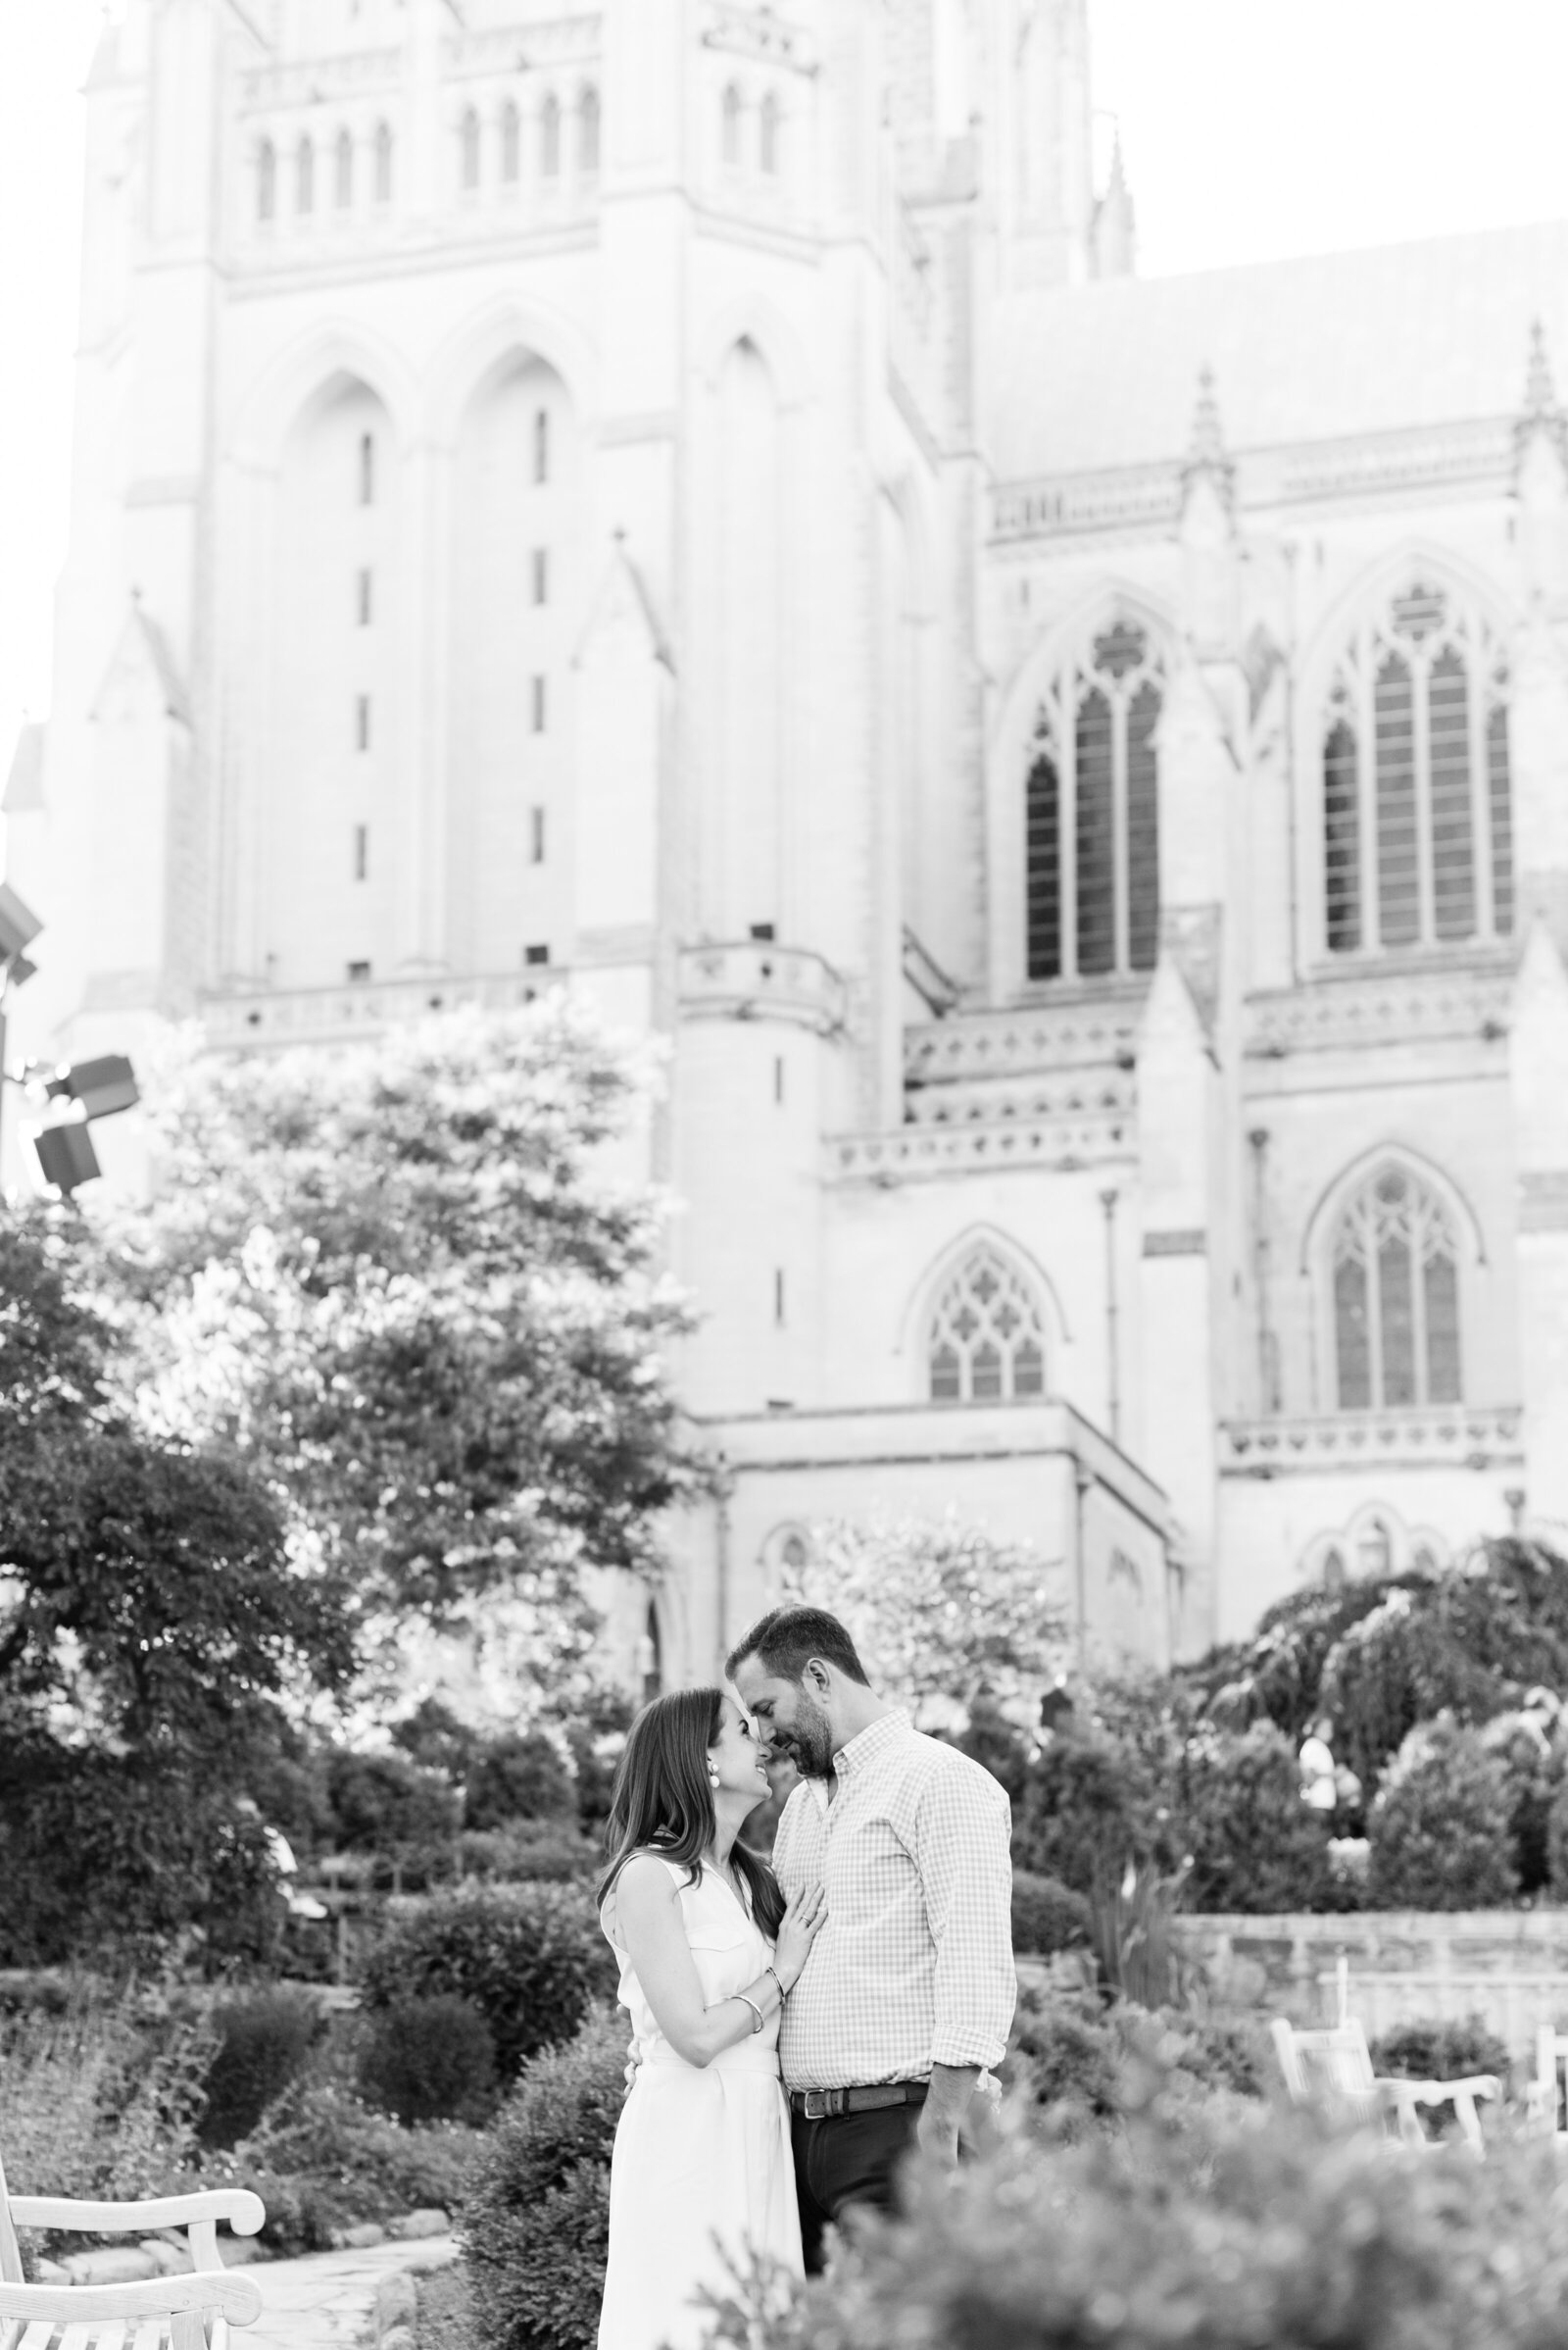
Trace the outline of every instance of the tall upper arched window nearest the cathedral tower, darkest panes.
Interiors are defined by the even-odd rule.
[[[1155,968],[1162,700],[1148,632],[1117,620],[1040,703],[1023,813],[1030,980]]]

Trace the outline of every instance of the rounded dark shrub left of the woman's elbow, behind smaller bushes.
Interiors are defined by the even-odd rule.
[[[371,1950],[366,2007],[455,1993],[495,2035],[512,2080],[526,2056],[570,2040],[594,1998],[613,1998],[617,1967],[577,1885],[462,1887],[411,1904]]]

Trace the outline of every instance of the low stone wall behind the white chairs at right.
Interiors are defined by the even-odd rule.
[[[1568,1908],[1216,1915],[1178,1918],[1176,1929],[1216,1998],[1293,2023],[1333,2019],[1343,1955],[1350,2014],[1368,2040],[1479,2014],[1514,2056],[1533,2056],[1540,2023],[1568,2028]]]

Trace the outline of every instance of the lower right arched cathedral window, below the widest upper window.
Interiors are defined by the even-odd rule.
[[[1460,1401],[1460,1255],[1444,1203],[1380,1168],[1329,1243],[1333,1365],[1343,1412]]]

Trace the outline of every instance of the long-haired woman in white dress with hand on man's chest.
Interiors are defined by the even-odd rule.
[[[737,1842],[768,1802],[751,1723],[681,1690],[627,1739],[599,1915],[620,1960],[636,2080],[615,2131],[599,2350],[690,2350],[751,2256],[800,2275],[779,2007],[824,1920]]]

